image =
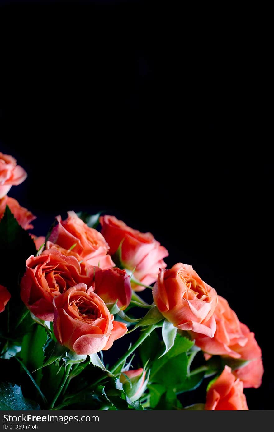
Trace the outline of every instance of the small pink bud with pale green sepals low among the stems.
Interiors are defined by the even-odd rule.
[[[129,381],[123,374],[129,377],[131,381],[131,387]],[[145,382],[145,371],[143,368],[140,368],[131,371],[125,371],[123,374],[120,375],[120,382],[123,385],[123,389],[132,402],[135,402],[135,400],[140,399],[146,389],[147,383]]]

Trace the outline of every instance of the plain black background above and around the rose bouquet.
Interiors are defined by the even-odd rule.
[[[103,209],[226,297],[263,352],[248,406],[272,409],[266,68],[259,16],[234,12],[2,6],[0,144],[28,172],[9,195],[36,235],[67,210]]]

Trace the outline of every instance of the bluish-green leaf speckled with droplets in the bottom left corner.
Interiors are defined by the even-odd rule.
[[[25,399],[21,388],[10,382],[0,383],[0,410],[39,410],[36,402]]]

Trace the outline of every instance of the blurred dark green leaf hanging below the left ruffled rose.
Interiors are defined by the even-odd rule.
[[[22,349],[17,357],[22,359],[23,364],[33,374],[35,382],[40,384],[42,367],[44,361],[43,346],[47,340],[47,332],[44,327],[33,324],[29,333],[23,337]],[[36,372],[34,372],[36,371]]]

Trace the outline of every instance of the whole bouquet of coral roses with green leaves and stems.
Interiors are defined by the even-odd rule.
[[[69,211],[29,234],[7,196],[25,178],[0,153],[0,409],[248,410],[261,349],[226,299],[115,216]]]

